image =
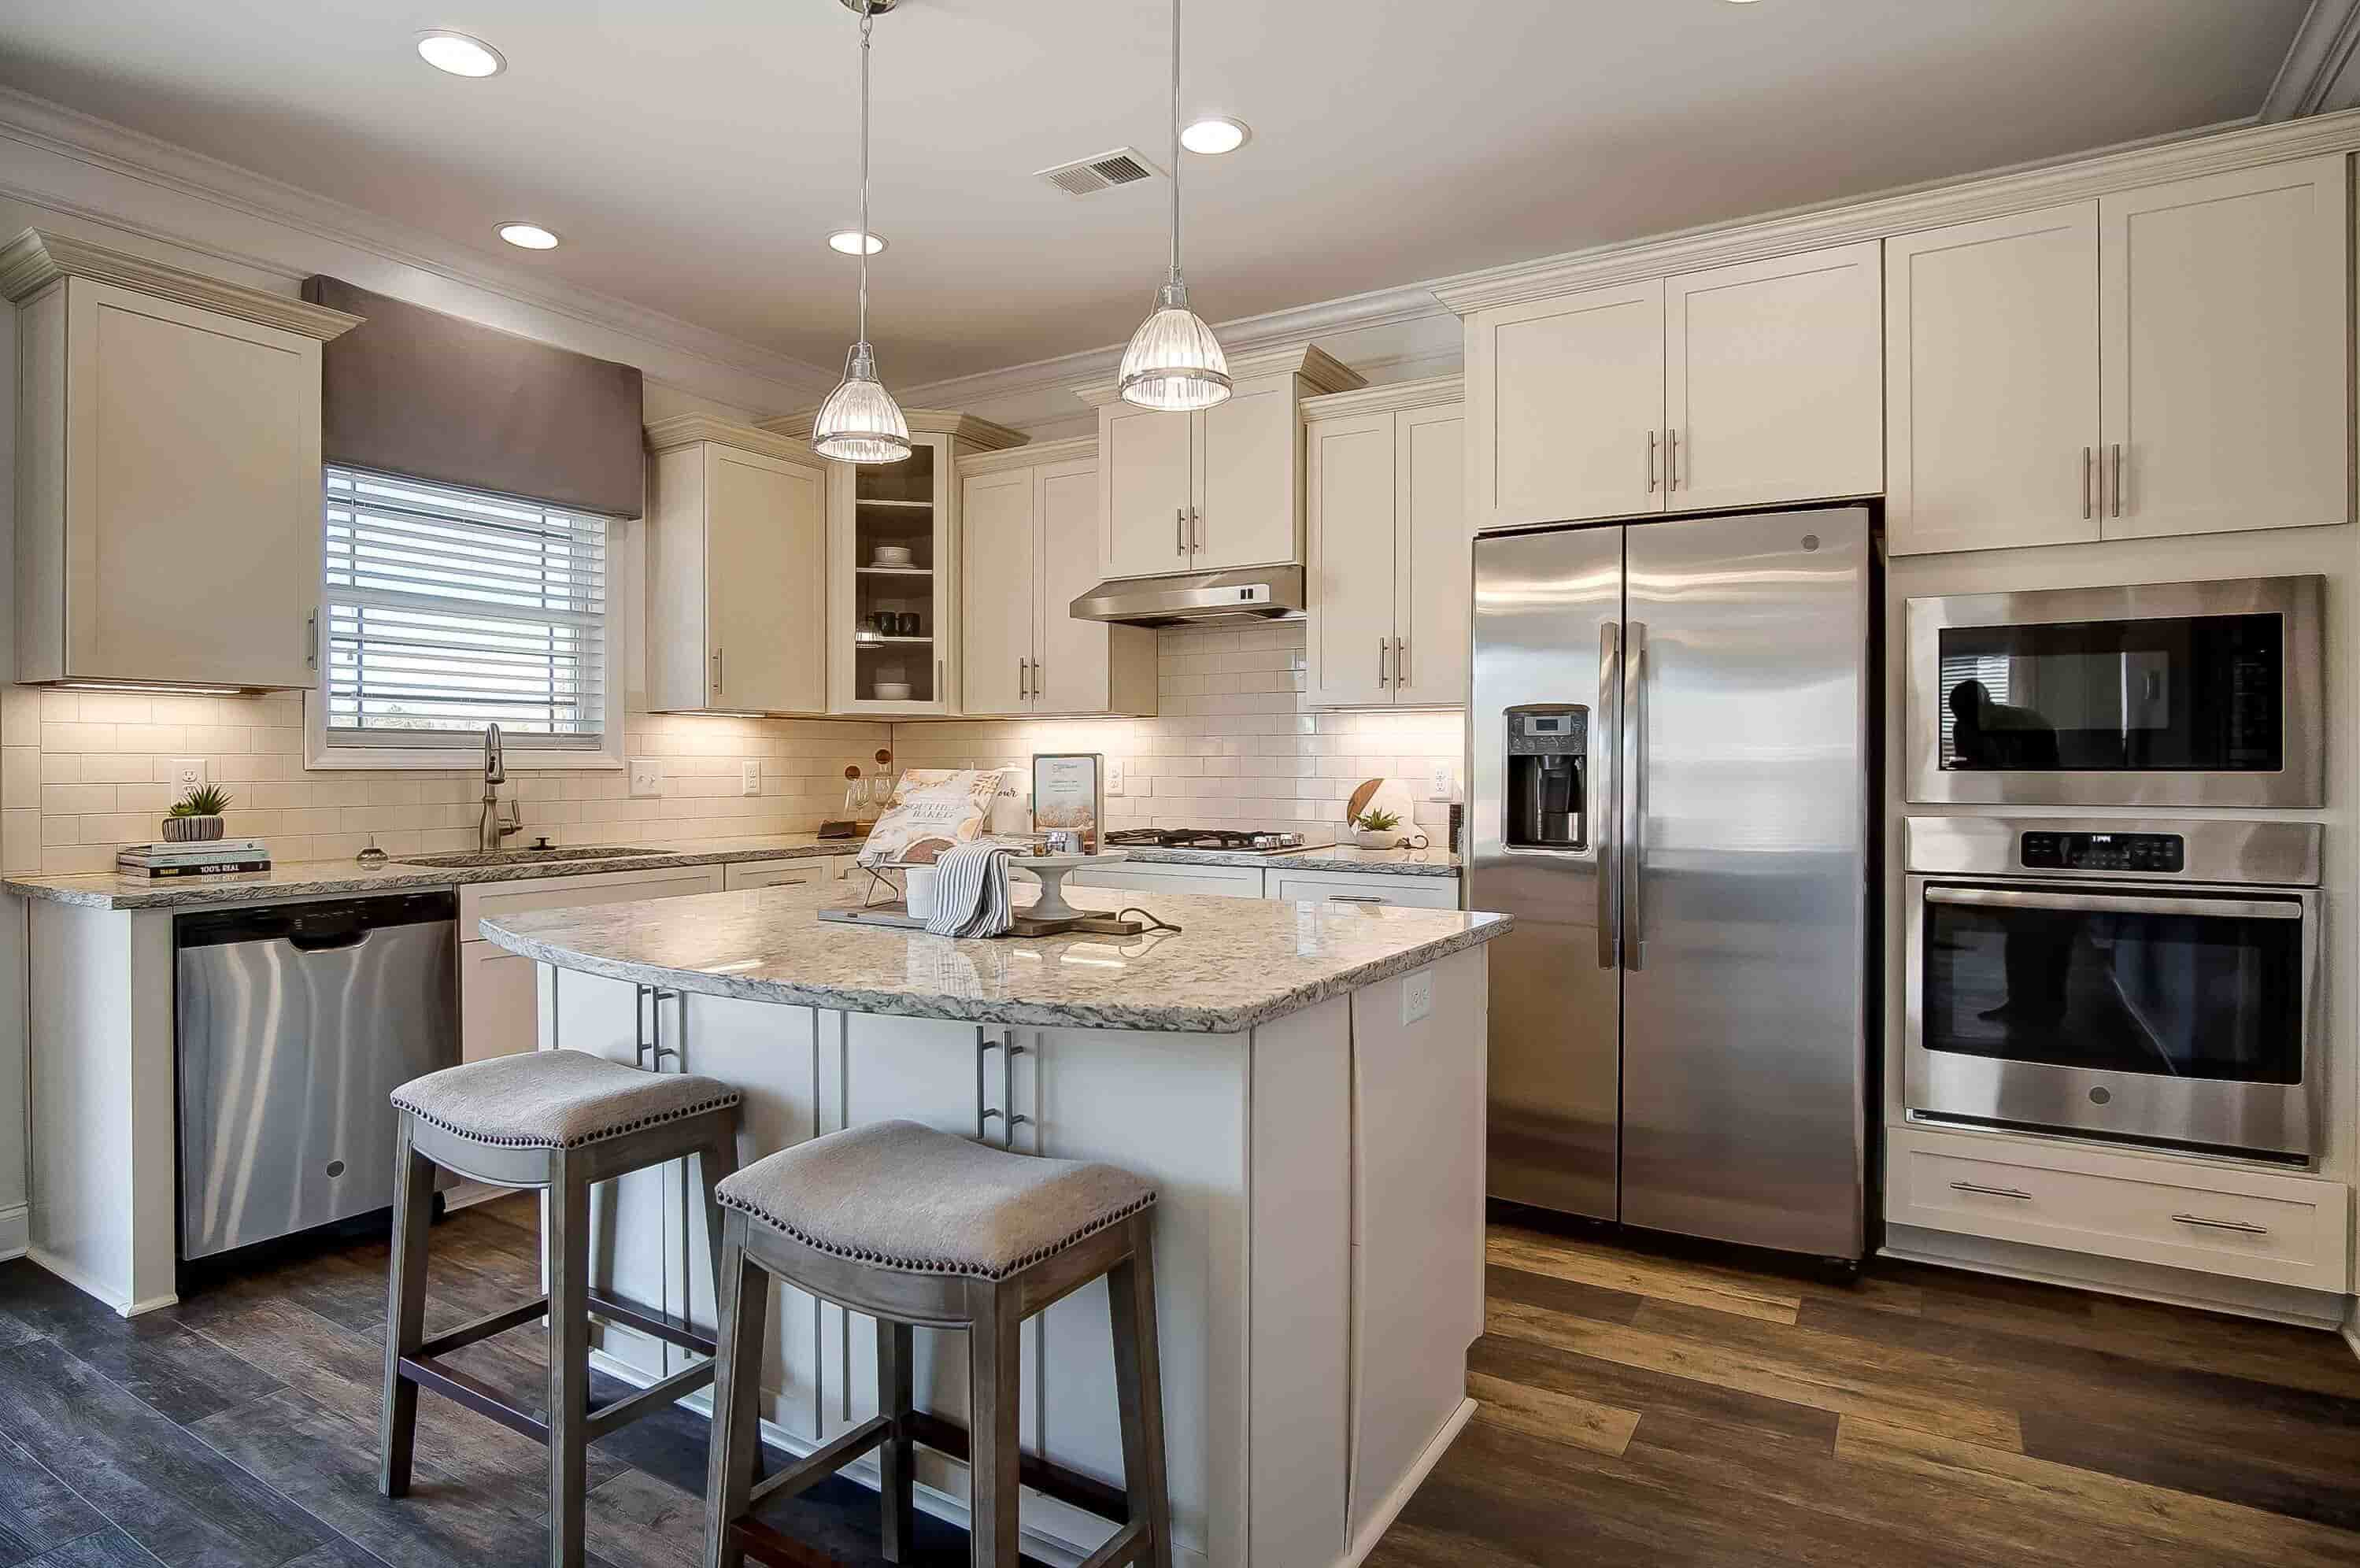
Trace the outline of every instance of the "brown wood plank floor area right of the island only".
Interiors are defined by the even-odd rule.
[[[1499,1223],[1482,1410],[1369,1568],[2360,1568],[2334,1334]]]

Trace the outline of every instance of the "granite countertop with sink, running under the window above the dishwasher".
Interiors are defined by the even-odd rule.
[[[564,845],[559,845],[564,848]],[[222,904],[267,904],[283,897],[323,893],[404,893],[415,888],[455,888],[460,883],[526,881],[538,876],[590,876],[592,871],[668,871],[673,867],[720,867],[736,860],[800,860],[807,855],[852,855],[857,838],[819,841],[812,834],[769,834],[753,838],[694,838],[687,843],[630,843],[644,855],[607,855],[597,860],[540,860],[505,867],[420,867],[387,860],[363,867],[354,860],[290,860],[253,876],[189,876],[149,881],[144,876],[7,876],[0,890],[19,897],[45,897],[87,909],[198,909]]]

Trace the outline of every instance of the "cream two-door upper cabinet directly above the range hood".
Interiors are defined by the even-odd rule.
[[[1230,397],[1197,413],[1097,404],[1100,576],[1161,576],[1300,560],[1303,399],[1359,375],[1310,345],[1230,361]]]

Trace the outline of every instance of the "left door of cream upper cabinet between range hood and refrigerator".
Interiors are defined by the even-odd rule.
[[[1315,420],[1305,435],[1310,626],[1305,690],[1315,706],[1392,701],[1395,451],[1392,416]],[[1458,541],[1466,553],[1466,538]]]

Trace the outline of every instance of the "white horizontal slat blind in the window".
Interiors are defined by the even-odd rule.
[[[323,557],[330,746],[602,744],[604,517],[328,468]]]

